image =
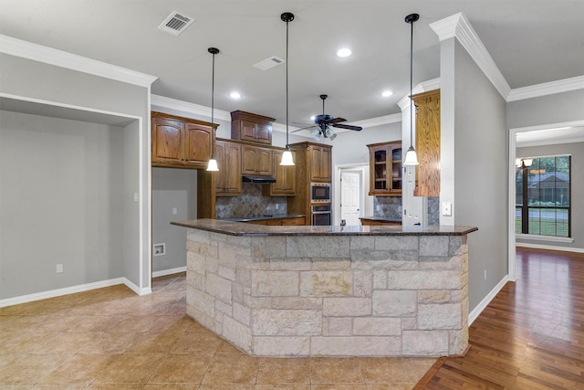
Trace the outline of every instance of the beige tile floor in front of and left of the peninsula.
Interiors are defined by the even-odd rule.
[[[187,317],[185,275],[0,308],[0,389],[412,389],[433,358],[255,358]]]

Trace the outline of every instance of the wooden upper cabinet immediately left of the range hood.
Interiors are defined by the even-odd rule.
[[[219,172],[215,173],[215,195],[241,195],[241,145],[227,141],[215,142],[215,159],[219,166]]]

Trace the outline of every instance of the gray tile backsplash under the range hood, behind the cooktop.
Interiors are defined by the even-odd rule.
[[[241,195],[217,197],[215,217],[222,219],[287,214],[287,197],[262,195],[263,185],[267,184],[244,183]]]

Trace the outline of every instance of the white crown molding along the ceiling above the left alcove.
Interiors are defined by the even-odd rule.
[[[155,76],[0,34],[0,53],[150,88]]]

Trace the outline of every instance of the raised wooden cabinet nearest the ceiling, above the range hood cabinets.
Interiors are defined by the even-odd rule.
[[[248,142],[272,144],[272,123],[274,118],[245,111],[231,113],[231,138]]]

